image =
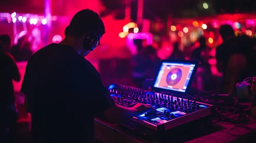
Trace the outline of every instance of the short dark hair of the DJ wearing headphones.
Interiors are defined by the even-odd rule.
[[[73,16],[68,28],[65,30],[65,35],[82,37],[89,32],[100,33],[99,36],[102,36],[105,33],[105,26],[96,12],[84,9]]]

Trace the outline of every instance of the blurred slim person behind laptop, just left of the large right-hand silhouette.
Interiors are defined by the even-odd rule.
[[[200,37],[200,46],[192,52],[192,59],[201,62],[198,71],[196,71],[196,82],[199,90],[211,90],[211,65],[208,63],[209,47],[206,46],[205,37]]]

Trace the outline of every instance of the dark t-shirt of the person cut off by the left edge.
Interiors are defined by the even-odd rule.
[[[0,52],[0,106],[14,102],[12,80],[18,81],[20,76],[11,55]]]

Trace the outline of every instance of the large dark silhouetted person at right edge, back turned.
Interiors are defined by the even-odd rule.
[[[230,25],[221,26],[220,34],[223,43],[216,48],[216,66],[223,73],[222,93],[235,95],[237,82],[255,74],[255,44],[246,35],[235,37]]]

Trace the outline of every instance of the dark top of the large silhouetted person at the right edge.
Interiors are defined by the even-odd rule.
[[[252,76],[254,73],[253,41],[247,36],[235,37],[225,41],[216,49],[216,60],[223,62],[223,70],[226,71],[228,60],[233,54],[243,54],[247,60],[247,68],[240,75],[238,82]],[[225,76],[225,73],[224,73]]]

